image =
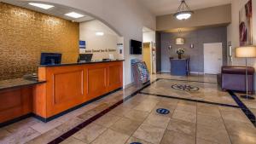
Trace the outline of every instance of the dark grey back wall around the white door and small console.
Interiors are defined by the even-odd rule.
[[[185,39],[184,45],[176,45],[175,39],[177,37],[183,37]],[[199,29],[191,32],[182,33],[169,33],[160,32],[160,41],[158,41],[161,48],[160,65],[162,72],[170,71],[170,57],[177,57],[176,49],[185,49],[183,56],[189,56],[190,58],[190,72],[204,72],[204,43],[223,43],[223,60],[224,65],[227,63],[227,27],[209,27]],[[190,48],[190,44],[194,44],[194,48]],[[168,47],[172,45],[172,49]],[[159,62],[159,61],[158,61]],[[157,66],[158,67],[158,66]]]

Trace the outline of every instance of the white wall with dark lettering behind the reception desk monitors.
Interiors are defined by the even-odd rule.
[[[103,36],[96,36],[96,32],[103,32]],[[117,43],[119,36],[113,32],[108,26],[99,20],[90,20],[79,24],[79,39],[86,42],[86,49],[80,50],[85,53],[85,50],[101,50],[101,49],[115,49],[115,52],[95,52],[92,60],[108,59],[109,54],[114,56],[114,59],[121,59]],[[88,52],[86,52],[88,54]]]

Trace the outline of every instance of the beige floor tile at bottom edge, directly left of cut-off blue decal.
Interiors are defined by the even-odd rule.
[[[125,144],[129,139],[129,135],[125,135],[114,130],[106,130],[102,135],[98,136],[92,144]]]

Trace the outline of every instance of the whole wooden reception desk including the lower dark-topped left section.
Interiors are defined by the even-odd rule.
[[[38,80],[0,81],[0,127],[35,116],[44,122],[123,87],[123,60],[39,66]]]

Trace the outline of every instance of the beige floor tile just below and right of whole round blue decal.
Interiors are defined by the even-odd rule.
[[[172,118],[167,127],[167,130],[172,130],[186,135],[195,136],[196,127],[195,123],[190,123],[183,120]]]

